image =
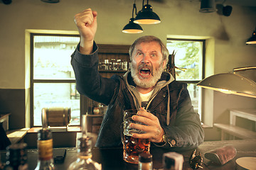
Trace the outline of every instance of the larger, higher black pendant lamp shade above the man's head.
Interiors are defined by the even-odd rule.
[[[159,16],[153,12],[152,6],[146,4],[143,6],[142,10],[138,12],[135,17],[134,23],[139,24],[156,24],[161,23]]]

